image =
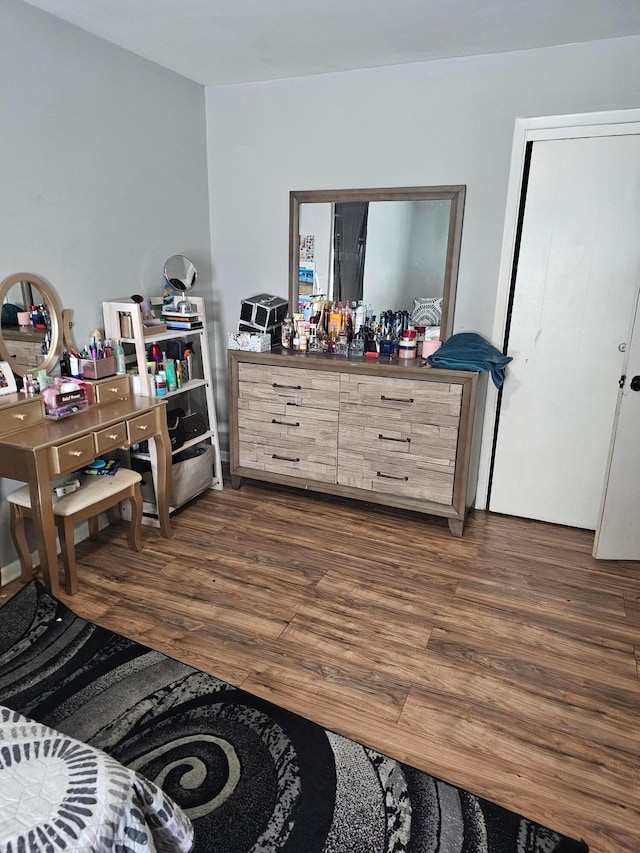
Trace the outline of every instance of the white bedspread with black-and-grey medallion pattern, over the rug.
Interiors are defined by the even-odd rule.
[[[106,753],[0,705],[2,853],[188,853],[193,828]]]

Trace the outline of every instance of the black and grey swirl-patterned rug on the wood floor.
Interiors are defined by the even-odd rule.
[[[163,788],[198,853],[587,850],[80,619],[35,581],[0,608],[0,703]]]

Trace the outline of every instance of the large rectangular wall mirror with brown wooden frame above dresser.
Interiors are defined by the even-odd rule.
[[[379,316],[442,297],[440,337],[453,331],[464,185],[292,191],[289,305],[310,295],[362,300]]]

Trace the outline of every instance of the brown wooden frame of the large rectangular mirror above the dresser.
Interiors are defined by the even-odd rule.
[[[438,187],[383,187],[378,189],[291,190],[289,193],[289,310],[298,304],[300,254],[300,205],[343,201],[451,201],[447,257],[444,272],[440,338],[445,341],[453,333],[453,316],[458,285],[462,219],[466,195],[465,184]],[[432,294],[425,293],[425,296]]]

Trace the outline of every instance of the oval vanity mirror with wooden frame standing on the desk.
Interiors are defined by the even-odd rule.
[[[54,289],[35,273],[14,273],[0,284],[0,304],[2,360],[19,376],[49,372],[62,349],[62,310]]]

